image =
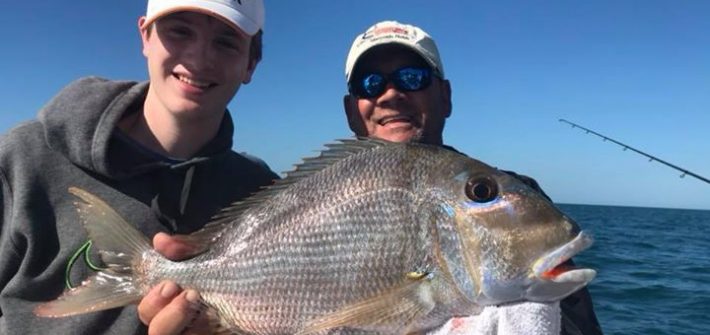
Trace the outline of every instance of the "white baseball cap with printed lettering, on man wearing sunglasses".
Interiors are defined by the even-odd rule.
[[[405,46],[421,56],[442,78],[444,65],[441,63],[439,49],[434,39],[419,27],[399,23],[397,21],[382,21],[355,37],[345,60],[345,80],[350,82],[350,76],[358,59],[368,50],[385,44]]]

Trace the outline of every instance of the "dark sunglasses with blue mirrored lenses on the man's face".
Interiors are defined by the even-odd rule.
[[[407,66],[389,75],[364,73],[350,81],[348,91],[357,97],[375,98],[385,91],[388,82],[403,92],[419,91],[431,84],[431,72],[428,67]]]

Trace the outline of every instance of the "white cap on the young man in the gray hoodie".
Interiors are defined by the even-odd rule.
[[[148,0],[143,27],[167,14],[182,11],[214,16],[249,36],[264,28],[263,0]]]

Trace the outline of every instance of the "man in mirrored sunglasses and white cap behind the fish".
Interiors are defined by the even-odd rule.
[[[379,22],[355,38],[345,65],[350,129],[359,136],[444,145],[451,86],[434,40],[422,29]],[[508,172],[543,193],[529,177]],[[601,334],[586,288],[560,303],[562,334]]]

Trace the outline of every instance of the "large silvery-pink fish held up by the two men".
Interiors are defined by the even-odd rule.
[[[71,188],[108,268],[35,313],[119,307],[171,279],[234,333],[404,334],[486,305],[557,301],[596,274],[559,266],[590,237],[506,173],[436,146],[327,147],[189,237],[209,248],[182,262]]]

